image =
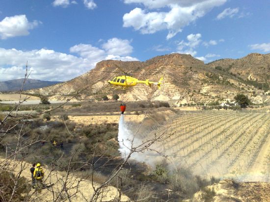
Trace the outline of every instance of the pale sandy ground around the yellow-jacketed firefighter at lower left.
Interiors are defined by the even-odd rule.
[[[3,158],[0,158],[0,165],[3,165],[5,163]],[[12,168],[11,168],[12,167]],[[26,162],[15,162],[11,161],[11,170],[14,170],[15,174],[19,173],[21,168],[23,168],[22,176],[29,179],[29,184],[31,183],[31,174],[29,172],[31,165]],[[33,201],[39,201],[39,202],[51,202],[54,200],[52,192],[57,192],[63,188],[63,180],[65,180],[66,173],[64,172],[56,172],[48,169],[47,166],[42,166],[45,172],[45,181],[44,183],[46,185],[54,184],[52,187],[48,189],[42,189],[41,191],[35,192],[34,189],[31,189],[29,192],[29,195],[31,196],[31,200]],[[76,193],[77,184],[79,183],[79,189],[78,193]],[[89,180],[81,179],[76,176],[70,175],[67,180],[67,187],[74,187],[69,190],[69,194],[73,195],[75,194],[71,201],[72,202],[83,202],[83,201],[89,201],[92,194],[94,193],[92,182]],[[94,183],[94,186],[97,186],[98,184]],[[115,187],[109,186],[106,190],[104,190],[103,198],[101,201],[111,201],[115,197],[119,196],[118,191]],[[121,196],[121,201],[126,202],[129,198],[125,195]]]

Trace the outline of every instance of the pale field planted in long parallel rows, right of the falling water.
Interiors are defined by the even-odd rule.
[[[181,113],[141,138],[163,131],[175,133],[154,148],[162,150],[174,166],[205,176],[270,182],[270,113]]]

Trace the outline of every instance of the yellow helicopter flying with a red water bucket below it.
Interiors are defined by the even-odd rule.
[[[128,73],[124,72],[118,65],[115,65],[115,66],[117,67],[117,69],[122,71],[125,75],[114,77],[113,79],[108,81],[109,84],[116,85],[116,86],[122,86],[122,87],[126,88],[126,87],[130,87],[130,86],[135,86],[138,83],[145,83],[146,85],[148,85],[150,87],[152,85],[157,85],[158,88],[161,89],[161,84],[162,84],[161,82],[163,80],[163,77],[160,78],[159,82],[149,81],[149,79],[139,80],[137,78],[130,76]],[[117,72],[113,72],[113,73],[117,73]]]

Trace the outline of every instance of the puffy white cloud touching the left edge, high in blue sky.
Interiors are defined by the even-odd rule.
[[[0,38],[7,39],[15,36],[26,36],[29,34],[29,29],[33,29],[41,22],[28,22],[26,15],[15,15],[5,17],[0,21]]]

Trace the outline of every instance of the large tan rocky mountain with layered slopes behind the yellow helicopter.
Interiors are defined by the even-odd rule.
[[[262,57],[268,61],[268,55]],[[257,57],[250,57],[250,66],[255,63],[259,64],[257,60],[253,61],[254,58]],[[224,61],[229,67],[238,60],[224,59]],[[268,99],[267,91],[264,92],[252,83],[246,82],[243,77],[225,70],[225,65],[223,65],[225,62],[222,62],[223,60],[220,60],[206,65],[191,55],[179,53],[157,56],[144,62],[104,60],[97,63],[93,70],[70,81],[31,90],[28,93],[45,94],[51,96],[51,99],[63,100],[87,87],[76,99],[101,100],[104,95],[111,99],[114,94],[118,94],[121,101],[171,101],[176,106],[185,103],[233,100],[238,93],[244,93],[253,98],[261,96],[257,98],[261,102]],[[132,72],[132,76],[140,80],[158,81],[160,77],[164,77],[161,90],[156,86],[149,87],[144,84],[137,84],[135,87],[127,89],[117,89],[111,86],[108,80],[123,75],[122,73],[112,73],[119,72],[114,64],[120,66],[125,72]],[[269,63],[260,64],[267,67]],[[222,65],[222,69],[216,69],[216,65]],[[241,68],[244,69],[244,67]],[[237,68],[240,69],[240,66],[235,66],[235,69]],[[253,69],[252,71],[254,75],[259,74]]]

